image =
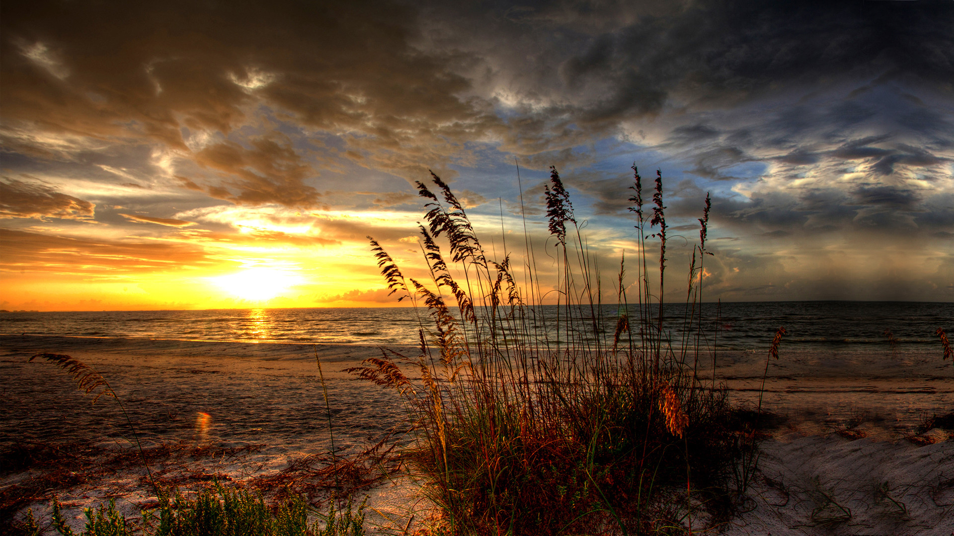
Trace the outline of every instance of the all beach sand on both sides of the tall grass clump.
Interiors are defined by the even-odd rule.
[[[48,516],[55,494],[76,527],[83,507],[116,498],[121,510],[132,513],[154,504],[155,494],[114,401],[91,405],[51,364],[27,362],[39,351],[70,354],[100,371],[155,454],[156,476],[184,488],[275,478],[296,461],[330,449],[316,352],[340,455],[402,424],[391,393],[343,372],[380,355],[373,346],[0,337],[0,402],[7,408],[0,446],[62,445],[61,451],[47,451],[47,458],[59,465],[74,461],[57,475],[55,488],[44,489],[37,487],[52,482],[51,460],[4,467],[0,497],[31,489],[28,499],[35,500],[22,501],[20,511],[31,505]],[[718,374],[734,384],[737,399],[752,400],[754,391],[747,389],[760,379],[753,371],[761,359],[725,358]],[[864,378],[815,374],[809,381],[804,371],[814,359],[806,356],[799,364],[798,357],[790,358],[773,368],[765,406],[791,418],[762,444],[746,504],[751,511],[725,526],[725,533],[954,532],[954,441],[939,429],[909,437],[925,412],[944,413],[945,404],[950,411],[952,382],[933,369],[927,379],[913,374],[899,381],[885,374],[879,380],[875,371]],[[374,508],[369,520],[393,528],[403,527],[411,514],[424,519],[419,491],[405,477],[385,480],[366,492]]]

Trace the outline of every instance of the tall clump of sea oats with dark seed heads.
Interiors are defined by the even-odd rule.
[[[624,282],[621,258],[618,313],[605,318],[595,258],[555,168],[546,188],[554,290],[544,289],[534,269],[538,252],[529,239],[521,285],[508,253],[488,258],[463,204],[439,176],[431,178],[437,194],[417,183],[426,201],[426,224],[419,226],[424,277],[405,277],[368,237],[391,293],[423,305],[414,309],[417,351],[383,350],[349,370],[406,402],[415,441],[405,455],[446,530],[681,533],[723,520],[748,482],[733,475],[751,475],[738,463],[754,459],[755,432],[731,425],[715,355],[702,342],[709,197],[684,316],[666,318],[662,176],[657,172],[652,203],[645,203],[633,167],[636,282]],[[656,262],[648,255],[652,240],[657,271],[649,269]],[[635,297],[627,295],[632,286]],[[710,356],[712,377],[703,380],[700,357]]]

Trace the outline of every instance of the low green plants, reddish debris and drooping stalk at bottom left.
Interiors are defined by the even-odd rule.
[[[86,395],[93,396],[93,403],[106,396],[114,399],[118,404],[126,423],[129,425],[135,438],[138,459],[146,470],[149,483],[156,491],[158,507],[146,508],[140,511],[139,520],[128,520],[115,506],[111,499],[107,505],[98,505],[94,508],[85,508],[86,521],[81,536],[363,536],[365,501],[354,508],[353,495],[358,489],[367,487],[386,475],[397,471],[393,461],[384,460],[394,445],[384,446],[379,442],[356,456],[339,461],[332,451],[332,464],[318,470],[311,471],[311,457],[299,461],[279,475],[262,479],[260,487],[269,488],[271,484],[285,484],[285,488],[278,493],[278,498],[267,502],[263,495],[244,489],[227,489],[220,484],[207,487],[199,491],[195,497],[187,498],[181,493],[163,488],[153,475],[147,460],[149,454],[155,454],[142,448],[135,426],[126,412],[120,398],[116,395],[113,386],[92,366],[79,361],[72,356],[63,354],[39,353],[30,361],[42,360],[51,362],[66,371],[75,381],[76,386]],[[321,361],[318,362],[321,372]],[[322,387],[324,386],[321,374]],[[328,407],[327,391],[324,390],[325,406]],[[329,412],[330,415],[330,412]],[[330,417],[329,417],[330,419]],[[330,421],[329,421],[330,427]],[[334,443],[332,443],[334,444]],[[46,452],[53,449],[54,452]],[[157,448],[156,450],[165,450]],[[197,449],[199,451],[201,449]],[[12,461],[18,466],[30,466],[39,460],[58,457],[63,454],[50,445],[20,445],[13,452],[5,453],[5,460]],[[73,456],[73,458],[76,458]],[[121,458],[121,456],[119,457]],[[323,460],[323,455],[315,456]],[[341,463],[339,463],[341,462]],[[374,470],[364,464],[373,464]],[[296,490],[288,486],[289,480],[296,480],[295,474],[301,469],[309,473],[311,485],[307,489]],[[368,476],[374,473],[373,476]],[[75,474],[75,473],[71,473]],[[347,501],[338,507],[336,495],[332,495],[326,513],[317,510],[311,502],[316,488],[327,488],[329,479],[334,480],[332,489],[342,487],[342,475],[348,481],[350,493]],[[58,476],[58,475],[57,475]],[[52,477],[54,478],[54,477]],[[69,481],[59,479],[56,484],[64,485]],[[18,497],[12,501],[17,505],[25,500]],[[62,536],[74,536],[76,533],[65,520],[62,505],[59,500],[52,500],[51,513],[52,528]],[[309,520],[314,519],[309,524]],[[17,536],[39,536],[43,530],[28,508],[24,517],[12,523],[9,529],[0,531],[0,534],[15,534]]]

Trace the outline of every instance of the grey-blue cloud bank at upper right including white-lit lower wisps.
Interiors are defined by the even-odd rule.
[[[548,132],[551,144],[571,143],[564,125],[611,133],[627,121],[662,117],[673,127],[656,148],[692,162],[686,171],[702,179],[742,181],[736,166],[759,162],[773,166],[767,173],[793,180],[855,174],[843,181],[847,210],[799,206],[816,183],[799,186],[784,207],[758,194],[753,206],[730,217],[755,224],[757,215],[780,211],[790,223],[816,225],[834,213],[839,225],[867,226],[865,209],[899,209],[896,199],[865,193],[881,177],[949,175],[949,106],[931,106],[924,92],[949,102],[950,3],[702,1],[640,11],[612,2],[555,2],[528,3],[505,22],[489,18],[491,41],[512,43],[498,47],[511,54],[487,52],[467,36],[447,42],[483,51],[503,80],[498,87],[536,103],[509,120],[520,141],[535,139],[524,134],[535,131]],[[574,185],[596,199],[597,213],[625,209],[622,181],[590,180]],[[907,184],[889,187],[911,200],[923,197]],[[853,222],[849,215],[862,217]]]

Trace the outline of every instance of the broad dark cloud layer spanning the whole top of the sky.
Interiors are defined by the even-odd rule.
[[[37,150],[17,129],[138,134],[185,151],[183,127],[228,134],[265,103],[342,135],[344,155],[363,165],[409,178],[476,139],[545,168],[563,163],[553,151],[667,106],[697,110],[845,77],[877,78],[866,88],[912,77],[943,86],[954,72],[952,10],[899,4],[8,2],[0,98],[10,143]],[[503,115],[494,109],[502,86],[516,98]],[[851,124],[873,112],[844,101],[831,113]],[[811,117],[776,118],[778,139]],[[670,142],[713,142],[721,131],[676,126]],[[750,156],[738,143],[711,147],[695,172],[721,176]],[[276,195],[261,184],[273,176],[261,178],[215,195],[315,202],[288,183],[275,190],[290,197]]]

